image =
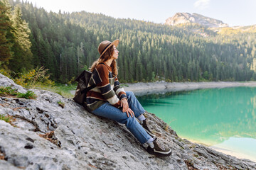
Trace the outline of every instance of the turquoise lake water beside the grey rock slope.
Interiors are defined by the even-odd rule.
[[[256,88],[179,91],[138,99],[178,136],[256,160]]]

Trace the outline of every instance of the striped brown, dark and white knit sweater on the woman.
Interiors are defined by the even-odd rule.
[[[89,111],[94,111],[102,104],[109,102],[119,108],[122,98],[127,98],[124,88],[119,85],[117,77],[112,76],[112,68],[107,64],[98,64],[92,72],[87,87],[96,84],[96,87],[87,92],[86,105]]]

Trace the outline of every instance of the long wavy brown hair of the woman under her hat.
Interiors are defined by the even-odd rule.
[[[113,52],[114,52],[114,45],[112,45],[109,49],[107,49],[107,51],[98,60],[96,60],[95,62],[92,63],[92,66],[89,68],[90,71],[93,72],[98,64],[109,60],[111,58]],[[110,67],[112,68],[113,77],[116,77],[118,74],[117,61],[113,60]]]

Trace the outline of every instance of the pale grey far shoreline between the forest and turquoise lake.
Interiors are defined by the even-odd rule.
[[[210,81],[210,82],[174,82],[167,83],[164,81],[150,83],[122,84],[125,91],[133,91],[137,96],[146,94],[159,94],[169,91],[190,91],[196,89],[215,89],[248,86],[256,87],[256,81]]]

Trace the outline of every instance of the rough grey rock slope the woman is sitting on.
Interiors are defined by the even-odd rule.
[[[0,74],[0,86],[26,92]],[[37,98],[0,97],[0,169],[256,169],[256,163],[181,139],[146,113],[170,157],[148,154],[124,125],[88,113],[72,99],[32,90]],[[58,101],[64,103],[60,106]]]

